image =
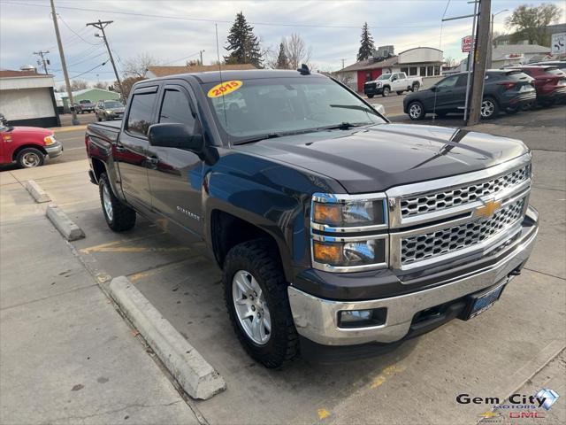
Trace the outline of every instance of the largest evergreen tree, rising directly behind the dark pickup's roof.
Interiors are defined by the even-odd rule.
[[[262,52],[253,31],[254,27],[249,25],[244,14],[237,13],[228,35],[226,50],[230,54],[224,57],[226,64],[252,64],[258,68],[262,66]]]

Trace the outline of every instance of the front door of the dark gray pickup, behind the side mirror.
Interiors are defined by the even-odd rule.
[[[199,126],[188,85],[166,84],[159,95],[157,122]],[[153,209],[172,224],[203,234],[203,163],[193,152],[149,146],[149,187]]]

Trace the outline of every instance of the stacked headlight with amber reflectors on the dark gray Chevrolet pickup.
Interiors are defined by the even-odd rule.
[[[310,228],[313,267],[336,272],[386,267],[385,194],[315,193]]]

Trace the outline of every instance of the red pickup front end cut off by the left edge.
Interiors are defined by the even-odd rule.
[[[0,117],[0,165],[17,162],[22,168],[42,166],[45,157],[55,158],[63,146],[51,130],[36,127],[11,127]]]

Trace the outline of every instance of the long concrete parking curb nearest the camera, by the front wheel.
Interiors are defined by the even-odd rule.
[[[226,390],[224,378],[125,276],[112,279],[110,295],[190,397],[208,399]]]

